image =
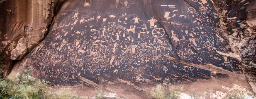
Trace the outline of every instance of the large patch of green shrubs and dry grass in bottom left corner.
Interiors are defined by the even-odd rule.
[[[29,75],[33,68],[23,70],[17,78],[0,79],[0,99],[75,99],[70,91],[60,89],[52,92],[44,80]]]

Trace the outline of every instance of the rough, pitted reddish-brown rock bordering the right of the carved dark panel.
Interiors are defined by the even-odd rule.
[[[216,0],[233,54],[241,56],[244,73],[256,92],[256,0]]]

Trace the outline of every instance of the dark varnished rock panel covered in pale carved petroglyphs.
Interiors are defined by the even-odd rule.
[[[59,12],[49,35],[23,61],[53,85],[101,77],[192,82],[211,78],[206,64],[241,72],[237,59],[219,54],[231,51],[208,0],[91,0],[86,7],[81,2]]]

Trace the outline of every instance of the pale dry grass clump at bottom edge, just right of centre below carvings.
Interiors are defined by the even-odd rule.
[[[171,86],[158,84],[151,90],[151,96],[153,99],[179,99],[180,92],[183,90],[183,86]]]

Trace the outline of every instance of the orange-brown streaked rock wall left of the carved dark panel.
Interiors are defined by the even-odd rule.
[[[1,66],[9,72],[12,60],[21,60],[47,33],[54,0],[1,0]],[[9,69],[9,71],[7,71]]]

